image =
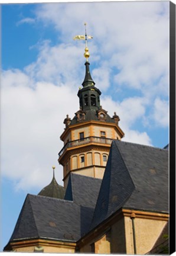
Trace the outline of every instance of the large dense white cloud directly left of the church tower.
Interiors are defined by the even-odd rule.
[[[24,74],[17,74],[21,81]],[[14,87],[10,77],[10,72],[2,77],[2,174],[16,180],[16,186],[24,190],[44,187],[52,177],[51,167],[56,165],[56,177],[61,183],[63,169],[58,167],[57,153],[63,143],[59,137],[66,114],[73,117],[77,110],[77,96],[65,85],[45,82],[35,84],[35,89],[25,82]]]

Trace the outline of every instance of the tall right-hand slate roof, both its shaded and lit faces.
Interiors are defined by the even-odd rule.
[[[114,140],[90,229],[120,207],[168,213],[168,151]]]

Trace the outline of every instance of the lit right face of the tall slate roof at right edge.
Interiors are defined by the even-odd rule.
[[[168,151],[133,143],[116,143],[135,184],[123,207],[168,212]]]

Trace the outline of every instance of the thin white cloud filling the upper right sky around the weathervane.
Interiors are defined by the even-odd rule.
[[[99,56],[100,66],[107,68],[108,63],[102,88],[135,88],[153,98],[159,79],[168,81],[168,7],[167,2],[157,1],[60,3],[41,5],[36,15],[44,24],[54,24],[62,41],[70,42],[75,34],[84,34],[85,13],[91,13],[87,25],[87,33],[94,37],[89,42],[91,61],[97,63]],[[110,84],[112,72],[115,83]],[[166,89],[159,90],[165,93]]]

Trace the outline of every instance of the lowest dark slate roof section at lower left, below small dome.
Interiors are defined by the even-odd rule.
[[[10,241],[27,238],[77,241],[80,207],[72,201],[28,194]]]

